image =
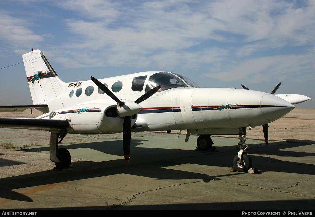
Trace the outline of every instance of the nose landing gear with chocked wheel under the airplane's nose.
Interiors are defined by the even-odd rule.
[[[238,134],[239,135],[238,146],[240,147],[240,151],[238,152],[238,155],[235,156],[233,161],[234,167],[238,172],[247,172],[253,165],[252,159],[245,152],[248,146],[245,144],[246,136],[243,136],[243,129],[244,128],[240,129],[240,133]],[[245,149],[243,149],[243,144],[246,145]]]

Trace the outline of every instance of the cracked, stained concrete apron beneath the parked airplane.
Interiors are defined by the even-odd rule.
[[[307,110],[308,121],[299,114],[289,113],[284,120],[314,124],[315,110]],[[278,128],[287,128],[285,121]],[[280,133],[267,147],[263,140],[248,136],[247,154],[258,174],[229,171],[238,138],[213,137],[218,152],[211,152],[195,150],[197,136],[186,143],[184,135],[176,138],[177,133],[142,133],[132,138],[126,164],[119,135],[98,139],[80,135],[82,142],[75,142],[74,136],[60,144],[72,155],[72,169],[67,171],[53,169],[47,144],[29,151],[2,148],[1,209],[312,210],[315,141],[314,131],[304,132],[307,129],[292,128],[294,136],[287,139]],[[251,133],[254,130],[262,133],[261,129]],[[23,144],[29,133],[0,131],[0,136]],[[42,144],[45,132],[31,135],[36,137]]]

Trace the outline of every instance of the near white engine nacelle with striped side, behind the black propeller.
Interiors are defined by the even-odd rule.
[[[117,107],[107,103],[79,104],[58,109],[46,114],[49,119],[66,119],[70,126],[67,133],[119,133],[123,132],[123,121],[117,114]],[[131,126],[135,124],[137,114],[131,117]]]

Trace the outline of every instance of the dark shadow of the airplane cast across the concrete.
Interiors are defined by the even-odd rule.
[[[133,139],[131,141],[131,153],[137,157],[145,155],[146,159],[149,159],[139,163],[128,164],[124,163],[123,157],[118,160],[110,161],[76,161],[72,163],[73,170],[71,171],[43,171],[26,175],[15,176],[0,179],[0,197],[18,200],[29,201],[32,199],[12,191],[12,189],[26,188],[39,185],[48,185],[60,182],[67,182],[80,179],[89,179],[95,177],[110,176],[114,174],[130,174],[135,176],[150,177],[154,179],[200,179],[204,182],[209,182],[214,178],[221,180],[220,177],[241,175],[242,173],[227,172],[224,175],[209,176],[204,173],[187,172],[177,169],[165,168],[182,164],[197,164],[205,166],[226,167],[232,166],[232,161],[237,151],[226,152],[205,152],[200,151],[198,154],[191,154],[197,150],[178,150],[178,149],[160,149],[160,148],[144,148],[136,147],[142,144],[145,139]],[[284,173],[299,173],[299,174],[315,174],[313,164],[297,163],[292,161],[281,161],[273,157],[266,157],[260,155],[273,155],[273,156],[315,156],[314,153],[298,152],[298,151],[286,151],[282,149],[301,147],[309,144],[299,143],[283,143],[279,142],[278,145],[271,145],[267,147],[251,148],[247,150],[247,153],[251,155],[253,162],[261,169],[262,172],[274,171]],[[91,148],[111,155],[122,155],[122,141],[109,141],[109,142],[91,142],[91,143],[77,143],[67,145],[67,149],[76,148]],[[105,148],[104,148],[105,147]],[[221,148],[221,147],[220,147]],[[41,148],[42,149],[42,148]],[[49,147],[47,147],[49,149]],[[106,150],[106,151],[104,151]],[[199,154],[200,153],[200,154]],[[159,160],[157,155],[168,155],[171,158]],[[182,157],[184,156],[184,157]],[[158,160],[156,160],[158,159]],[[123,161],[123,163],[122,163]],[[287,166],[284,166],[288,164]],[[243,173],[245,174],[245,173]],[[34,179],[33,177],[36,177]]]

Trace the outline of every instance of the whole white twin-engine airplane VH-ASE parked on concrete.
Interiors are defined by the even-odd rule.
[[[263,126],[289,113],[293,104],[309,97],[273,95],[244,89],[200,88],[190,79],[169,72],[142,72],[112,78],[64,83],[40,50],[22,55],[33,105],[1,106],[0,111],[36,108],[35,118],[0,118],[0,127],[46,130],[50,134],[50,160],[69,168],[71,156],[58,144],[67,133],[123,132],[123,152],[129,160],[131,131],[187,129],[199,135],[199,150],[209,150],[211,135],[239,135],[240,151],[234,167],[247,172],[252,161],[243,149],[247,127]]]

